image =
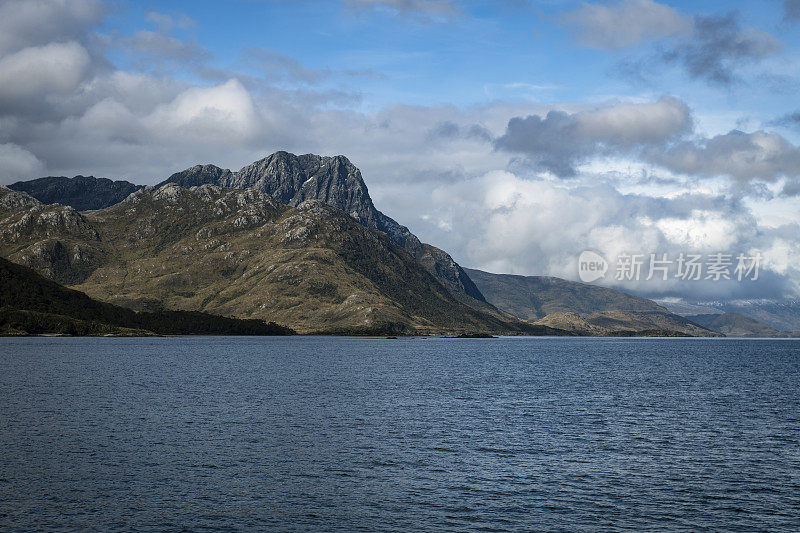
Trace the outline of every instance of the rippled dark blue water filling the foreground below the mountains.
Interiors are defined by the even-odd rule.
[[[0,339],[2,530],[800,530],[800,342]]]

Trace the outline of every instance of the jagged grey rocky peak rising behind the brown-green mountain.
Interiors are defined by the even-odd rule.
[[[346,157],[294,155],[276,152],[236,172],[214,165],[196,165],[177,172],[156,187],[175,183],[183,187],[217,185],[255,188],[279,203],[298,206],[307,200],[321,200],[358,220],[364,226],[386,233],[395,244],[433,274],[456,297],[486,311],[483,294],[449,254],[420,242],[407,227],[378,211],[372,203],[361,171]]]

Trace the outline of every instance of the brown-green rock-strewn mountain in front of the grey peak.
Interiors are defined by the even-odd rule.
[[[1,256],[131,309],[306,333],[560,333],[465,305],[387,235],[319,200],[167,184],[88,213],[0,188],[0,207]]]

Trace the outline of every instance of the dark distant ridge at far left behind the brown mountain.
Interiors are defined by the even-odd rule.
[[[141,189],[142,185],[94,176],[60,176],[18,181],[8,187],[26,192],[43,204],[62,204],[78,211],[88,211],[117,204]]]

